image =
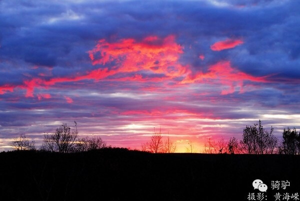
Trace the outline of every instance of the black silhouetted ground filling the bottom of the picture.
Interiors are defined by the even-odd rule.
[[[257,178],[268,186],[262,200],[275,200],[276,192],[300,193],[299,156],[150,154],[119,148],[2,152],[0,200],[248,200],[249,193],[260,192],[252,187]],[[290,183],[272,189],[276,180]]]

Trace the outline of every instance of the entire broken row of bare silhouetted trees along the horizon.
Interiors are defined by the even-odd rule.
[[[106,142],[99,136],[79,137],[77,123],[74,121],[75,129],[63,123],[56,128],[54,133],[44,134],[43,143],[40,150],[51,152],[81,152],[107,147]],[[15,150],[35,150],[35,142],[29,141],[25,135],[20,135],[14,139],[11,145]],[[176,151],[176,143],[169,136],[164,140],[161,128],[150,136],[150,139],[141,144],[141,150],[151,153],[173,153]],[[194,153],[196,148],[192,141],[188,142],[186,152]],[[273,134],[273,128],[265,130],[259,119],[258,123],[246,125],[243,129],[242,139],[230,137],[228,141],[223,137],[217,141],[210,137],[204,144],[204,153],[247,153],[247,154],[300,154],[300,133],[296,128],[283,129],[282,140],[278,140]]]

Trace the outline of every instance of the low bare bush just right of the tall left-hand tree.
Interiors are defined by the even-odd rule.
[[[83,137],[76,143],[76,151],[88,151],[106,147],[106,142],[99,136]]]

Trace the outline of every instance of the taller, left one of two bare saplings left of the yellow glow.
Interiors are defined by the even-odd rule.
[[[159,128],[159,132],[156,132],[154,127],[154,134],[151,135],[149,141],[141,144],[141,150],[149,151],[151,153],[158,153],[163,151],[161,128]]]

